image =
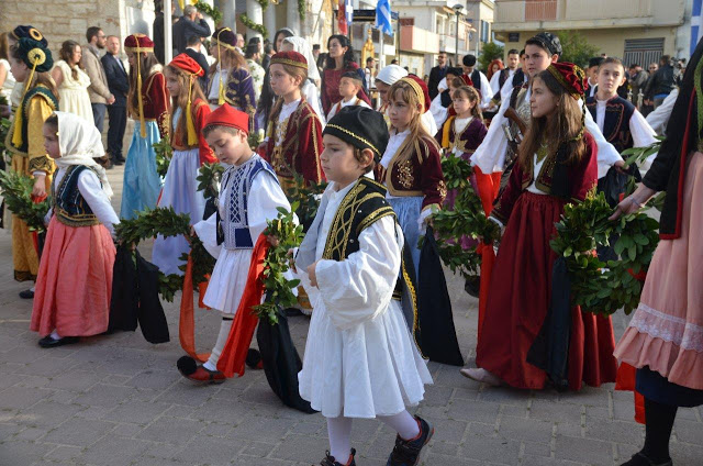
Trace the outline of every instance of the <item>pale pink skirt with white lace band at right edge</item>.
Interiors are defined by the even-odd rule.
[[[670,382],[703,389],[703,154],[689,162],[681,237],[657,246],[639,307],[615,357]]]

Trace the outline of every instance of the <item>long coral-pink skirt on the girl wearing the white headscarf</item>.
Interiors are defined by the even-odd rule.
[[[108,330],[115,248],[103,225],[67,226],[52,218],[36,278],[30,329],[89,336]]]

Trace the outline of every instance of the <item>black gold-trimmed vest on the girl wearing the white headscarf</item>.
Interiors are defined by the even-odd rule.
[[[85,165],[71,165],[66,169],[64,178],[56,187],[56,178],[52,181],[52,199],[56,220],[67,226],[92,226],[100,221],[92,213],[78,189],[78,178],[83,170],[91,168]]]

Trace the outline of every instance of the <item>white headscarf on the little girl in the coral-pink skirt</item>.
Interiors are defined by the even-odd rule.
[[[102,190],[112,197],[112,187],[105,169],[94,159],[105,155],[102,136],[96,125],[88,120],[67,112],[55,112],[58,116],[58,147],[60,158],[54,163],[60,168],[85,165],[94,169],[102,182]]]

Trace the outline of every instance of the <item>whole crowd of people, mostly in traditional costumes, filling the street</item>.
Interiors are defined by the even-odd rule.
[[[489,291],[477,367],[461,374],[489,387],[579,390],[615,381],[618,359],[631,364],[646,397],[647,437],[625,465],[671,464],[677,407],[703,403],[703,301],[692,277],[703,256],[693,234],[703,189],[695,90],[702,44],[680,77],[668,57],[647,77],[615,57],[596,57],[587,70],[562,62],[559,38],[542,32],[487,70],[475,55],[451,67],[439,53],[425,80],[397,64],[376,73],[372,57],[359,67],[345,35],[328,37],[325,55],[288,27],[270,43],[246,43],[230,27],[211,31],[188,5],[174,25],[169,63],[160,40],[135,33],[121,44],[100,27],[89,27],[82,45],[63,43],[57,62],[32,26],[2,34],[0,46],[2,95],[12,108],[10,169],[33,179],[34,200],[52,198],[41,253],[22,219],[13,215],[11,226],[14,277],[36,284],[21,296],[34,300],[31,330],[42,347],[108,330],[115,226],[172,208],[189,215],[192,234],[216,258],[202,301],[222,317],[209,358],[178,367],[192,381],[223,382],[238,364],[232,335],[237,315],[249,312],[249,276],[266,244],[278,242],[264,234],[267,222],[291,209],[287,196],[299,179],[326,182],[302,244],[291,251],[300,306],[312,312],[299,393],[326,418],[330,435],[321,464],[355,464],[355,418],[378,418],[398,432],[389,465],[417,464],[434,433],[406,409],[432,384],[416,344],[415,293],[434,292],[417,284],[421,240],[456,196],[442,160],[460,157],[472,167],[483,213],[502,233],[493,271],[481,277]],[[633,101],[640,93],[643,101]],[[646,119],[647,104],[654,110]],[[123,157],[127,118],[135,126]],[[622,152],[655,143],[665,127],[659,154],[640,167],[643,184],[623,199],[636,167]],[[256,147],[253,133],[263,134]],[[165,177],[156,169],[160,141],[172,148]],[[119,215],[105,176],[111,163],[125,163]],[[197,177],[216,163],[225,170],[210,212]],[[605,192],[614,219],[667,191],[662,241],[617,345],[609,317],[568,306],[570,323],[559,334],[565,369],[555,374],[529,356],[561,292],[549,241],[565,206],[594,188]],[[189,237],[158,235],[152,263],[182,275],[190,248]],[[598,254],[617,260],[612,247]]]

